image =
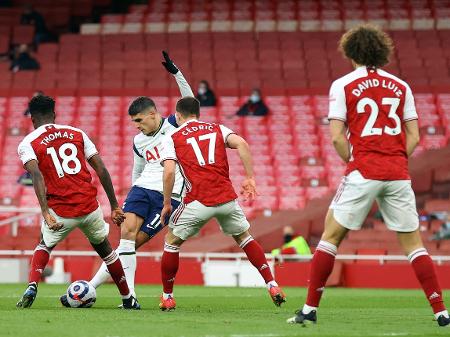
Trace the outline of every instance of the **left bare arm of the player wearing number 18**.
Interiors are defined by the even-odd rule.
[[[34,192],[38,198],[39,205],[41,206],[41,213],[44,217],[44,221],[48,228],[57,231],[63,226],[62,223],[56,221],[56,219],[50,214],[47,204],[47,195],[45,188],[44,176],[39,170],[39,166],[36,160],[30,160],[25,163],[25,169],[30,172],[31,179],[33,180]]]

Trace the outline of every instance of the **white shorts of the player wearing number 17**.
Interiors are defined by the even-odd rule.
[[[196,235],[205,223],[216,218],[222,232],[227,235],[239,235],[250,228],[250,224],[237,200],[218,206],[205,206],[195,200],[183,203],[173,212],[169,227],[173,234],[186,241]]]

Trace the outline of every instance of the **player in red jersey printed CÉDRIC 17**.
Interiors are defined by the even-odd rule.
[[[216,218],[222,231],[231,235],[247,254],[267,284],[269,294],[280,306],[285,296],[275,282],[264,252],[249,233],[250,224],[237,202],[237,195],[229,177],[226,148],[236,149],[244,165],[246,179],[241,194],[248,199],[256,196],[252,156],[247,142],[223,125],[198,121],[200,103],[196,98],[184,97],[177,102],[175,116],[180,127],[163,141],[161,161],[164,162],[163,224],[168,222],[172,204],[177,164],[184,175],[187,192],[183,202],[173,213],[165,237],[161,259],[164,292],[159,307],[175,309],[173,285],[178,270],[180,247],[211,218]]]

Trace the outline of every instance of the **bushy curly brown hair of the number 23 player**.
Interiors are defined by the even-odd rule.
[[[357,64],[378,68],[389,63],[394,45],[385,32],[366,24],[342,35],[339,49]]]

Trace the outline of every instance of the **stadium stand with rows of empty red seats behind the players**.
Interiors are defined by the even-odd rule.
[[[68,17],[87,16],[92,6],[107,2],[67,0],[54,8],[50,1],[35,1],[51,27],[67,25]],[[21,3],[14,1],[17,6]],[[29,27],[25,27],[27,31],[17,26],[19,17],[17,8],[0,9],[0,51],[11,43],[29,39]],[[28,97],[37,89],[56,96],[59,123],[76,125],[93,138],[123,200],[130,183],[131,140],[136,133],[125,111],[132,97],[145,94],[155,100],[160,111],[173,112],[178,89],[160,64],[160,51],[168,50],[193,87],[206,79],[216,91],[218,105],[203,108],[202,119],[229,126],[251,145],[260,197],[257,203],[244,208],[255,221],[271,223],[262,225],[255,236],[267,250],[278,246],[280,228],[289,219],[278,218],[278,213],[264,218],[261,213],[280,210],[290,216],[303,209],[309,214],[307,218],[289,221],[314,243],[320,234],[327,198],[344,171],[331,145],[326,121],[328,87],[333,79],[350,70],[350,64],[336,50],[337,40],[343,29],[369,19],[390,30],[396,51],[387,70],[407,80],[415,93],[422,132],[416,156],[433,149],[448,149],[448,2],[239,1],[238,6],[237,0],[153,1],[150,5],[131,6],[127,14],[103,15],[100,23],[83,25],[81,34],[61,35],[58,43],[41,44],[36,54],[41,64],[38,72],[11,74],[0,63],[1,203],[37,205],[32,188],[11,183],[23,172],[15,153],[19,140],[31,129],[23,111]],[[266,95],[270,115],[236,117],[235,112],[246,99],[244,95],[256,86]],[[243,171],[233,153],[230,166],[233,184],[238,187]],[[448,166],[420,172],[420,179],[414,180],[419,206],[427,212],[450,210],[448,202],[439,201],[448,199]],[[107,205],[105,195],[101,194],[99,201]],[[11,215],[14,213],[2,213],[2,217]],[[4,233],[0,247],[31,248],[38,237],[37,220],[20,222],[19,231],[29,239],[23,240],[21,235],[18,240]],[[400,253],[392,242],[394,237],[387,235],[381,222],[372,220],[372,224],[372,229],[352,233],[341,251]],[[440,223],[422,225],[425,237]],[[233,251],[231,244],[222,244],[217,230],[208,225],[201,237],[209,235],[208,242],[212,243],[202,246],[200,240],[194,240],[186,250]],[[111,231],[111,235],[114,242],[118,233]],[[368,247],[367,237],[377,240]],[[160,235],[146,249],[159,250],[161,240]],[[63,245],[67,249],[87,249],[85,239],[77,235],[71,235]],[[428,248],[448,253],[448,246],[430,243]]]

